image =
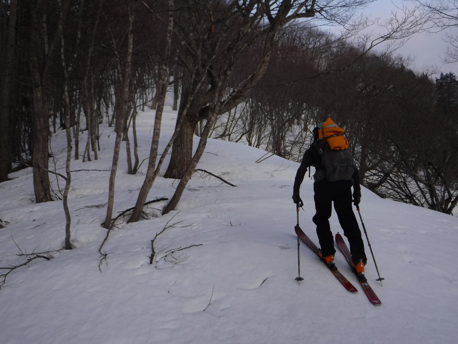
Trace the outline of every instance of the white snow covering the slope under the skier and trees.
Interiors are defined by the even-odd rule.
[[[149,154],[153,120],[154,111],[138,115],[140,161]],[[162,147],[174,120],[176,111],[164,112]],[[72,160],[72,170],[110,168],[115,135],[112,128],[101,131],[98,161]],[[63,174],[65,149],[65,132],[59,131],[52,138],[52,150],[57,172]],[[457,217],[383,200],[362,188],[361,214],[385,277],[383,286],[375,281],[378,276],[367,245],[366,276],[382,305],[367,300],[340,252],[336,264],[358,293],[345,290],[305,244],[300,246],[304,281],[299,285],[294,280],[297,237],[291,200],[299,164],[278,156],[255,163],[265,153],[209,139],[197,168],[221,175],[237,187],[195,173],[176,211],[160,216],[153,208],[166,203],[153,203],[147,211],[158,217],[114,228],[103,248],[109,255],[102,272],[98,248],[106,235],[100,226],[106,208],[81,208],[107,202],[109,172],[73,172],[69,207],[76,249],[55,252],[50,261],[36,259],[8,275],[0,290],[1,342],[457,342]],[[166,166],[167,161],[162,173]],[[146,167],[144,163],[140,172]],[[143,174],[128,175],[126,170],[123,144],[115,212],[135,204],[144,179]],[[11,173],[10,178],[14,179],[0,184],[0,218],[9,222],[0,229],[0,267],[26,261],[16,255],[16,244],[27,253],[56,250],[65,238],[61,201],[33,203],[30,168]],[[65,182],[59,183],[63,189]],[[147,200],[171,198],[177,184],[158,177]],[[301,198],[305,201],[301,228],[317,244],[311,221],[313,181],[308,177]],[[158,236],[157,262],[150,265],[151,240],[167,222],[179,223]],[[337,233],[337,216],[330,222]],[[190,245],[201,246],[161,258],[169,250]]]

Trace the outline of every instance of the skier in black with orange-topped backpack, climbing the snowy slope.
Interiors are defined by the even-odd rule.
[[[352,193],[351,187],[353,186],[353,202],[358,205],[361,200],[360,189],[360,176],[358,169],[354,167],[353,158],[349,150],[345,151],[351,161],[345,166],[340,162],[337,167],[337,173],[330,173],[329,171],[329,154],[323,152],[331,152],[330,154],[341,154],[345,149],[348,149],[348,141],[341,134],[344,129],[339,128],[331,118],[326,122],[318,124],[313,129],[314,142],[310,148],[305,151],[302,162],[296,173],[293,187],[293,201],[296,204],[303,204],[300,199],[299,189],[300,184],[304,180],[307,167],[315,167],[313,190],[315,192],[315,209],[316,214],[313,216],[313,222],[316,224],[316,234],[320,242],[321,249],[319,251],[320,257],[326,261],[331,267],[335,267],[333,233],[329,226],[329,217],[331,217],[332,202],[334,202],[334,209],[337,213],[340,226],[344,230],[344,235],[347,237],[350,244],[350,252],[352,255],[352,266],[360,277],[364,277],[364,266],[367,258],[364,251],[364,243],[361,238],[360,227],[354,216],[352,209]],[[337,139],[338,138],[338,139]],[[335,140],[335,141],[333,141]],[[341,144],[341,146],[335,147]],[[331,146],[331,147],[329,147]],[[339,153],[333,153],[339,152]],[[327,168],[328,167],[328,168]],[[339,168],[341,172],[339,172]],[[329,180],[331,179],[331,181]],[[337,180],[336,180],[337,179]],[[337,269],[337,268],[336,268]]]

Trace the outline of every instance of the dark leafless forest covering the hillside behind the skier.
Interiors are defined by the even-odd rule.
[[[397,42],[425,17],[404,10],[378,36],[352,15],[370,0],[3,0],[0,8],[0,183],[33,168],[37,203],[62,200],[71,161],[98,159],[99,127],[116,136],[104,227],[113,224],[115,176],[136,174],[136,115],[156,110],[147,173],[129,219],[142,215],[164,162],[180,180],[174,210],[207,139],[248,144],[300,161],[327,117],[345,129],[361,183],[383,198],[452,214],[458,202],[458,81],[409,68]],[[346,27],[340,34],[323,23]],[[176,127],[158,151],[165,95]],[[65,175],[50,137],[67,137]],[[194,135],[200,137],[195,154]],[[120,150],[127,161],[119,161]],[[268,158],[269,155],[266,155]],[[63,196],[50,187],[61,178]],[[162,176],[161,176],[162,177]]]

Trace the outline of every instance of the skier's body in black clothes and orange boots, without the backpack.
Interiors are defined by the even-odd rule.
[[[323,123],[320,124],[321,126]],[[319,125],[319,126],[320,126]],[[318,129],[322,127],[316,127],[313,130],[314,143],[311,147],[305,151],[302,162],[296,173],[293,187],[293,201],[294,203],[302,203],[299,195],[300,184],[304,180],[305,172],[307,172],[308,166],[314,166],[316,169],[315,176],[324,176],[326,173],[320,173],[319,170],[323,170],[321,156],[315,149],[315,143],[318,139]],[[322,172],[322,171],[321,171]],[[334,265],[334,254],[336,252],[334,248],[334,238],[329,226],[329,218],[331,217],[332,202],[334,202],[334,209],[337,213],[340,226],[344,230],[344,235],[347,237],[350,244],[350,252],[352,255],[352,266],[355,267],[357,272],[364,273],[364,266],[367,262],[367,258],[364,251],[364,243],[361,238],[360,227],[354,216],[352,209],[352,192],[351,187],[353,186],[353,202],[358,205],[361,200],[361,188],[360,188],[360,175],[358,169],[354,168],[354,173],[350,180],[338,180],[335,182],[329,182],[326,178],[318,178],[313,185],[313,191],[315,192],[315,209],[316,214],[313,216],[313,222],[316,224],[316,234],[320,242],[321,250],[320,256],[331,266]]]

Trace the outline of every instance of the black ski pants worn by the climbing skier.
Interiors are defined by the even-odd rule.
[[[320,241],[323,257],[335,254],[334,238],[329,226],[329,217],[331,217],[331,205],[334,202],[340,227],[344,230],[344,235],[350,243],[350,252],[353,261],[367,261],[364,253],[364,243],[361,238],[360,227],[354,216],[352,209],[351,181],[338,180],[329,182],[324,179],[315,183],[315,209],[316,214],[313,216],[313,222],[316,224],[316,234]]]

